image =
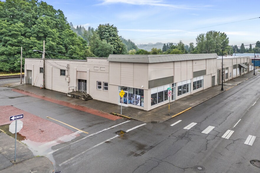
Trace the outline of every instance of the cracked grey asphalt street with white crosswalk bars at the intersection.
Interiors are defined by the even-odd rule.
[[[260,160],[259,78],[259,75],[250,78],[177,117],[156,124],[129,119],[114,121],[13,92],[7,87],[0,87],[0,106],[13,105],[80,134],[72,140],[47,145],[49,149],[41,152],[62,173],[254,173],[260,171],[250,164],[251,160]],[[58,136],[55,132],[49,135]],[[34,150],[30,143],[27,145]]]

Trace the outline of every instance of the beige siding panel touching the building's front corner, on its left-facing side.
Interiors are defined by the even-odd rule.
[[[148,64],[134,63],[134,88],[148,89]]]

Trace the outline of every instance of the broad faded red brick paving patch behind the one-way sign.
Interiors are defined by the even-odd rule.
[[[51,142],[59,139],[65,135],[72,135],[77,137],[80,134],[74,134],[75,132],[62,127],[54,122],[48,121],[37,117],[36,115],[25,112],[22,109],[18,109],[14,106],[0,106],[0,125],[10,124],[9,117],[13,115],[24,114],[24,118],[20,119],[23,122],[23,128],[19,132],[26,139],[33,142]],[[59,141],[58,143],[62,143]]]

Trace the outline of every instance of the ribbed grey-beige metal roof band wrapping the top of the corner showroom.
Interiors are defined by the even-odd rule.
[[[217,54],[175,54],[175,55],[109,55],[108,61],[112,62],[136,62],[157,63],[170,61],[186,61],[194,59],[218,58]]]

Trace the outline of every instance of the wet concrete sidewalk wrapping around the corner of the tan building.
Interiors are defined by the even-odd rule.
[[[256,69],[256,75],[259,74],[259,71]],[[157,123],[164,122],[182,112],[195,107],[196,105],[205,102],[206,100],[215,97],[216,95],[225,92],[226,90],[246,81],[247,79],[254,76],[254,71],[244,74],[242,76],[231,79],[227,82],[223,83],[223,91],[221,90],[221,84],[210,87],[208,89],[202,90],[200,92],[196,92],[195,94],[188,95],[184,98],[175,100],[170,103],[170,115],[168,112],[169,104],[164,104],[160,107],[152,109],[150,111],[144,111],[142,109],[136,109],[133,107],[122,107],[122,115],[121,106],[117,104],[111,104],[107,102],[102,102],[98,100],[88,100],[83,101],[80,99],[75,99],[72,97],[67,97],[67,94],[60,93],[56,91],[52,91],[49,89],[40,89],[39,87],[32,86],[30,84],[18,84],[10,87],[20,89],[26,92],[30,92],[36,95],[48,97],[50,99],[61,100],[64,102],[68,102],[75,105],[80,105],[90,109],[96,109],[101,112],[114,113],[118,116],[136,119],[142,122],[147,123]]]

